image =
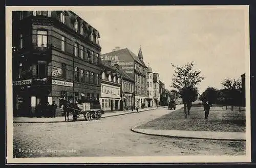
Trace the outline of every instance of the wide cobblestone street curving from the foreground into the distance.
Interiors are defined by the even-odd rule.
[[[131,127],[170,111],[158,108],[89,122],[13,123],[14,157],[245,155],[245,142],[170,138],[131,131]]]

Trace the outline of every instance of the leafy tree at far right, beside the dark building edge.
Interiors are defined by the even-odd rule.
[[[231,110],[233,110],[234,103],[239,105],[241,103],[241,79],[226,78],[221,82],[221,85],[223,86],[224,90],[226,90],[225,98],[231,100]]]

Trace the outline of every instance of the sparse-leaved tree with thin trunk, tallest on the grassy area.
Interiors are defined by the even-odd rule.
[[[187,118],[186,105],[189,101],[193,101],[193,95],[197,95],[197,84],[201,82],[204,77],[200,75],[201,71],[193,70],[194,62],[187,63],[182,66],[176,66],[172,64],[175,68],[172,87],[177,89],[182,99],[184,100],[184,116]]]

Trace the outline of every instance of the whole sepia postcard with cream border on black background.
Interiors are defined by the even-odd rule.
[[[7,163],[251,162],[249,6],[7,6],[6,72]]]

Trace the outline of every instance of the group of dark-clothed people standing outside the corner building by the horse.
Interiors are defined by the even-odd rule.
[[[35,107],[35,115],[37,118],[40,117],[46,117],[46,118],[53,118],[56,114],[57,105],[55,104],[55,101],[53,101],[52,105],[50,105],[49,102],[46,104],[41,104],[39,102]]]

